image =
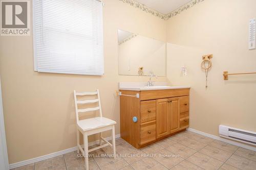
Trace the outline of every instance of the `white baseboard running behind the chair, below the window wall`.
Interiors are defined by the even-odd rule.
[[[120,134],[117,134],[115,137],[119,138]],[[110,137],[106,137],[105,139],[106,140],[112,140],[112,137],[111,136]],[[94,145],[94,144],[99,144],[99,140],[90,142],[89,143],[89,147]],[[12,168],[15,168],[15,167],[19,167],[19,166],[24,166],[24,165],[27,165],[27,164],[30,164],[30,163],[35,163],[35,162],[42,161],[42,160],[45,160],[45,159],[53,158],[55,156],[63,155],[63,154],[66,154],[66,153],[69,153],[69,152],[73,152],[73,151],[76,151],[76,150],[77,150],[77,147],[73,147],[73,148],[69,148],[69,149],[66,149],[66,150],[54,152],[54,153],[51,153],[51,154],[48,154],[48,155],[32,158],[32,159],[29,159],[29,160],[24,160],[24,161],[12,163],[12,164],[9,164],[9,169],[12,169]]]

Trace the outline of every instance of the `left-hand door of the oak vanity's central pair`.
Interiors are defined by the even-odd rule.
[[[168,99],[159,99],[156,104],[156,137],[160,138],[169,134]]]

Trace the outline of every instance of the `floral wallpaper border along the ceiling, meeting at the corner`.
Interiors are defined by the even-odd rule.
[[[133,7],[138,8],[142,11],[147,12],[147,13],[151,13],[152,15],[157,16],[161,19],[168,20],[169,18],[176,16],[177,14],[181,13],[182,11],[187,10],[187,9],[199,4],[199,3],[203,2],[204,0],[192,0],[192,1],[188,2],[187,4],[181,6],[180,8],[178,8],[178,9],[176,9],[176,10],[174,10],[174,11],[172,11],[172,12],[166,14],[166,15],[162,14],[162,13],[156,11],[156,10],[153,10],[151,8],[148,8],[147,6],[145,6],[143,4],[140,4],[140,3],[138,3],[134,0],[119,0],[119,1],[121,1],[123,3],[126,3],[126,4],[129,4]]]

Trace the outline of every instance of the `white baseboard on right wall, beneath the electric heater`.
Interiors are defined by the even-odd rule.
[[[239,143],[239,142],[236,142],[236,141],[228,140],[228,139],[222,138],[220,136],[211,135],[211,134],[204,133],[204,132],[192,129],[192,128],[187,128],[187,130],[190,131],[190,132],[194,132],[194,133],[197,133],[197,134],[200,134],[200,135],[204,135],[204,136],[207,136],[207,137],[210,137],[210,138],[213,138],[213,139],[216,139],[216,140],[220,140],[220,141],[223,141],[223,142],[226,142],[226,143],[229,143],[229,144],[233,144],[233,145],[236,145],[236,146],[241,147],[241,148],[256,151],[256,147],[252,147],[252,146],[247,145],[247,144],[243,144],[243,143]]]

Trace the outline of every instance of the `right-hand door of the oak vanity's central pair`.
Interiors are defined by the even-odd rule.
[[[179,98],[169,98],[168,101],[170,133],[174,133],[180,129]]]

